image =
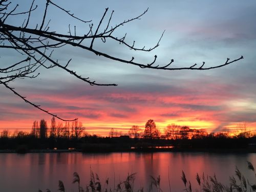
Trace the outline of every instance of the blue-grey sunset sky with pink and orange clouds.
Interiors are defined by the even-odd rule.
[[[19,1],[12,1],[13,6]],[[32,1],[19,5],[28,10]],[[97,56],[86,50],[66,46],[57,49],[53,58],[67,63],[70,69],[98,83],[117,83],[117,87],[90,86],[59,68],[42,69],[35,79],[16,79],[9,86],[33,103],[61,118],[78,118],[86,131],[108,135],[111,128],[126,133],[132,125],[143,130],[153,119],[160,130],[168,124],[187,125],[193,129],[219,132],[236,131],[246,122],[256,130],[256,2],[255,1],[54,1],[75,16],[92,20],[97,26],[105,8],[114,10],[111,25],[136,17],[148,8],[140,20],[119,28],[114,35],[133,40],[139,48],[153,47],[162,32],[159,47],[152,52],[133,51],[113,40],[95,42],[95,49],[110,55],[150,63],[157,55],[157,65],[174,59],[173,67],[190,67],[205,61],[205,67],[225,63],[226,58],[244,59],[231,65],[206,71],[167,71],[141,69]],[[35,1],[38,9],[31,15],[29,27],[40,24],[45,2]],[[25,17],[10,17],[8,24],[20,26]],[[50,31],[67,34],[69,24],[78,34],[87,33],[89,24],[68,17],[49,7]],[[102,25],[107,25],[103,20]],[[72,28],[73,29],[73,28]],[[15,54],[14,54],[15,53]],[[22,55],[1,49],[1,65]],[[64,64],[63,64],[64,65]],[[0,85],[0,130],[30,131],[34,120],[48,114],[35,109]]]

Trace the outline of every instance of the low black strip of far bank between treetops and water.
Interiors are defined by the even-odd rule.
[[[0,138],[0,153],[223,152],[256,153],[255,138]]]

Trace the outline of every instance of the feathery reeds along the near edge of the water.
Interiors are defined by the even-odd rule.
[[[247,161],[248,170],[254,173],[255,181],[256,181],[256,173],[254,167],[251,162]],[[74,172],[72,183],[78,186],[78,192],[144,192],[143,186],[138,189],[134,188],[135,176],[136,173],[132,173],[127,175],[124,181],[114,184],[113,187],[109,186],[109,178],[107,178],[103,184],[99,179],[99,176],[96,173],[93,173],[91,170],[90,174],[90,182],[86,187],[81,187],[80,177],[78,173]],[[169,176],[168,176],[169,177]],[[148,187],[149,192],[163,192],[160,187],[160,175],[158,177],[150,176],[151,182]],[[198,186],[195,188],[191,186],[191,182],[187,180],[185,173],[182,170],[181,180],[184,184],[184,189],[182,191],[186,192],[249,192],[256,191],[256,184],[249,182],[248,179],[241,173],[239,168],[236,166],[234,170],[234,175],[229,177],[229,184],[225,185],[218,181],[216,175],[214,176],[206,176],[204,173],[200,176],[198,173],[196,175],[196,181]],[[169,181],[169,178],[168,178]],[[199,188],[197,188],[199,187]],[[49,189],[46,189],[47,192],[51,192]],[[65,192],[65,187],[62,181],[59,181],[58,191]],[[169,182],[169,192],[171,191],[171,186]],[[42,190],[38,190],[38,192],[42,192]]]

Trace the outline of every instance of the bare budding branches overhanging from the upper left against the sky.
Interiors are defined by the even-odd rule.
[[[31,2],[30,7],[27,10],[20,10],[18,5],[11,4],[11,0],[0,0],[0,48],[2,49],[12,49],[17,51],[17,54],[20,55],[20,60],[14,63],[5,63],[5,65],[1,64],[0,66],[0,84],[5,86],[7,89],[12,91],[18,97],[22,98],[27,103],[33,105],[35,108],[44,111],[54,117],[54,115],[47,110],[44,110],[40,107],[40,105],[34,104],[29,101],[26,97],[17,93],[14,88],[9,86],[9,82],[14,80],[20,80],[23,78],[36,78],[39,73],[39,68],[46,68],[51,70],[56,67],[60,70],[64,70],[67,73],[75,76],[76,78],[89,83],[90,85],[96,86],[117,86],[114,83],[98,83],[95,80],[91,80],[89,77],[82,77],[76,71],[73,71],[69,68],[69,63],[71,59],[67,60],[65,63],[61,63],[58,59],[55,59],[52,54],[56,49],[60,49],[62,47],[77,47],[84,51],[95,53],[98,56],[103,56],[107,59],[119,61],[122,63],[126,63],[129,65],[134,65],[140,68],[150,68],[150,69],[160,69],[160,70],[209,70],[220,68],[235,61],[238,61],[243,58],[243,56],[238,59],[230,60],[229,58],[220,65],[205,67],[205,62],[202,62],[200,65],[193,64],[189,67],[173,67],[174,59],[170,59],[170,62],[165,64],[157,64],[157,55],[155,55],[150,63],[140,63],[137,62],[136,59],[131,56],[130,59],[116,57],[106,52],[102,52],[98,50],[94,45],[96,41],[102,41],[105,43],[108,40],[112,40],[118,42],[124,47],[135,50],[135,51],[145,51],[150,52],[159,46],[159,42],[163,36],[160,36],[159,40],[152,48],[138,48],[135,45],[135,41],[131,44],[126,41],[126,33],[124,35],[119,35],[116,37],[113,35],[121,26],[126,25],[127,23],[131,23],[136,19],[141,19],[141,17],[148,11],[146,9],[140,15],[132,17],[130,19],[126,19],[123,22],[112,25],[112,17],[114,11],[109,13],[109,8],[106,8],[102,14],[101,19],[98,24],[94,25],[92,20],[84,20],[82,18],[76,17],[69,10],[60,7],[52,0],[45,0],[45,7],[41,9],[42,18],[37,21],[37,23],[31,23],[31,17],[33,14],[36,14],[36,11],[40,7],[35,5],[35,0]],[[49,17],[54,18],[52,15],[48,15],[49,8],[55,8],[55,11],[61,11],[72,17],[76,20],[76,22],[80,22],[81,26],[74,26],[71,28],[69,25],[68,33],[59,32],[55,29],[49,28],[50,20]],[[12,25],[9,23],[10,18],[23,18],[24,22],[19,25]],[[78,32],[78,29],[86,28],[86,31]],[[82,34],[82,35],[80,35]],[[72,119],[74,120],[74,119]],[[69,120],[67,120],[69,121]]]

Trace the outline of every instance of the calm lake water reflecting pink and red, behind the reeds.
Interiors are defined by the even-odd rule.
[[[168,169],[172,191],[182,191],[180,179],[184,170],[192,188],[198,188],[196,173],[203,172],[209,176],[228,183],[229,176],[234,174],[236,165],[251,181],[253,174],[247,170],[246,161],[251,161],[256,167],[256,154],[209,154],[209,153],[33,153],[33,154],[0,154],[0,191],[28,191],[38,189],[57,191],[58,180],[62,180],[66,191],[77,191],[77,185],[72,184],[73,173],[80,175],[81,185],[89,184],[90,167],[99,175],[102,183],[110,178],[109,185],[113,187],[127,176],[127,173],[137,173],[135,185],[143,185],[148,189],[150,175],[161,177],[161,188],[169,191]],[[103,185],[102,185],[103,186]]]

